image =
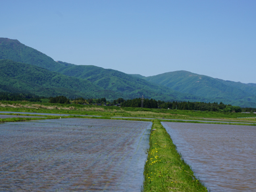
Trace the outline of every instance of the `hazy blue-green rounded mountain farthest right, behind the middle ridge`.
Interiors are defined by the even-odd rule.
[[[181,93],[191,93],[217,102],[256,107],[256,84],[224,81],[184,70],[143,77],[143,79]]]

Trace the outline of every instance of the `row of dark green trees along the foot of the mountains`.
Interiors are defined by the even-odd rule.
[[[107,101],[104,98],[84,99],[78,97],[76,99],[68,99],[64,96],[57,97],[39,97],[30,93],[6,93],[0,92],[0,101],[32,101],[41,102],[41,99],[49,99],[49,103],[63,103],[63,104],[101,104],[101,105],[120,105],[121,107],[141,107],[141,98],[123,99],[118,98],[113,101]],[[155,99],[143,99],[144,108],[165,108],[178,110],[207,110],[207,111],[224,111],[224,112],[255,112],[256,108],[241,108],[232,105],[224,105],[224,103],[204,103],[204,102],[186,102],[186,101],[156,101]]]

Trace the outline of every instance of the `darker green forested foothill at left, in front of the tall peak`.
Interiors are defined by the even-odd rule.
[[[89,81],[64,76],[31,64],[0,60],[0,68],[0,91],[34,93],[45,97],[122,97],[121,94],[106,91]]]

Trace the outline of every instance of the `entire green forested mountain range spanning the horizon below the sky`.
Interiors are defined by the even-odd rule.
[[[186,71],[144,77],[91,65],[55,61],[18,40],[0,38],[0,91],[39,96],[223,102],[256,107],[256,84],[218,80]]]

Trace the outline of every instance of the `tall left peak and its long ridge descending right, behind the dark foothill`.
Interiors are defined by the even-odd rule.
[[[90,65],[75,65],[61,61],[55,62],[47,55],[31,47],[27,47],[17,40],[0,38],[0,50],[1,59],[9,59],[15,62],[39,66],[49,71],[63,74],[66,77],[76,78],[78,81],[84,80],[90,82],[90,86],[100,87],[101,90],[107,93],[116,93],[113,97],[106,96],[107,99],[116,99],[120,97],[120,95],[122,95],[124,99],[132,99],[144,95],[144,97],[147,98],[165,101],[199,101],[204,99],[190,94],[179,93],[163,85],[147,82],[146,80],[132,77],[117,70],[104,69]],[[79,90],[77,89],[77,91]],[[90,93],[90,95],[97,95],[97,92],[95,93],[95,89],[93,88],[91,88],[88,93]]]

